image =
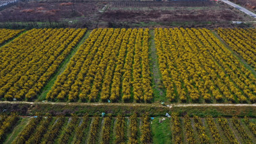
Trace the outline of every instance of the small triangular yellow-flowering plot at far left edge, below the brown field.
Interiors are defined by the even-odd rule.
[[[0,29],[0,44],[3,44],[24,30]]]

